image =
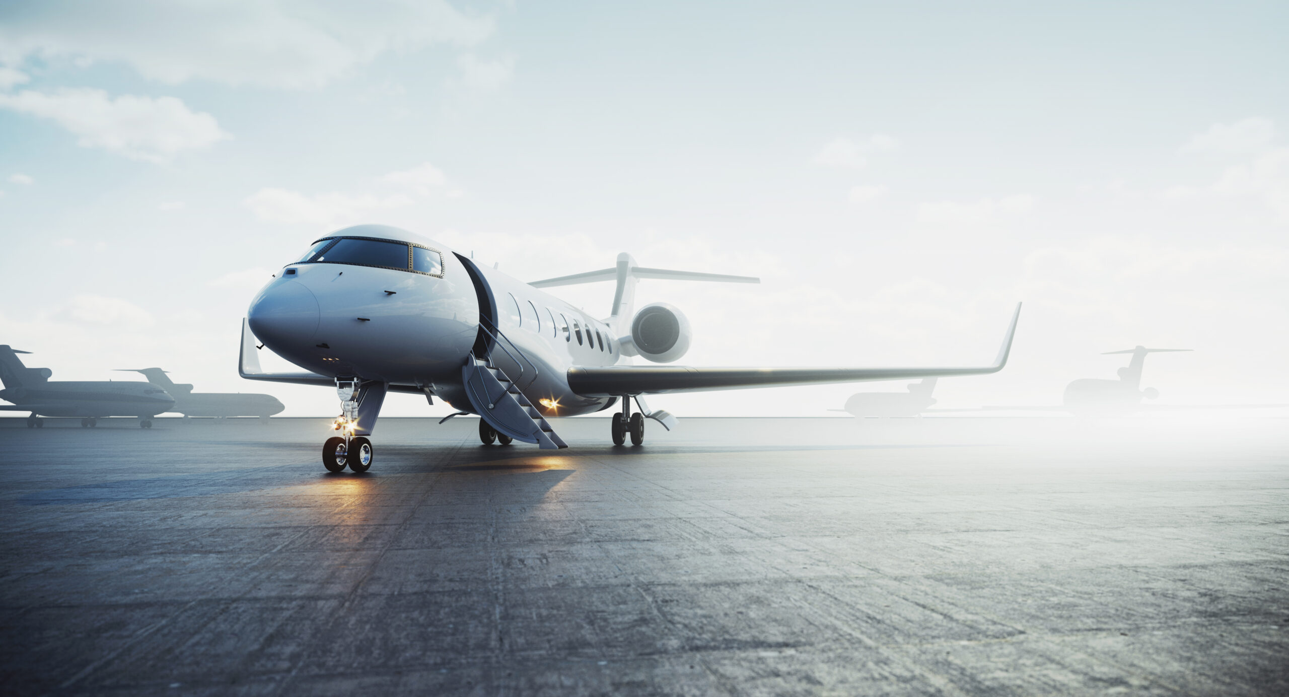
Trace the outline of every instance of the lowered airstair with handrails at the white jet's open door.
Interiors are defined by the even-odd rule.
[[[510,358],[510,363],[514,366],[512,370],[517,368],[517,375],[512,380],[504,370],[492,362],[491,356],[478,358],[472,352],[465,365],[461,366],[461,383],[465,385],[465,394],[469,397],[470,405],[498,433],[504,433],[525,443],[536,443],[541,446],[541,450],[568,447],[516,385],[518,380],[525,377],[528,377],[526,384],[531,385],[532,380],[536,379],[536,366],[500,330],[494,332],[485,329],[483,331],[492,336],[494,350],[500,348]],[[514,352],[507,349],[503,341],[510,344]],[[526,374],[530,371],[532,375],[527,376]]]

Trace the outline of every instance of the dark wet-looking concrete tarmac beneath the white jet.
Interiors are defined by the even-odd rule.
[[[0,420],[5,694],[1286,694],[1289,420]]]

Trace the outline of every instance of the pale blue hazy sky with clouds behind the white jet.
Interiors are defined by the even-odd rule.
[[[982,363],[1025,300],[1012,365],[940,406],[1058,403],[1137,344],[1195,349],[1147,361],[1160,403],[1284,401],[1289,4],[891,5],[3,3],[0,343],[331,415],[237,377],[240,321],[320,233],[387,223],[522,280],[761,276],[641,283],[691,365]]]

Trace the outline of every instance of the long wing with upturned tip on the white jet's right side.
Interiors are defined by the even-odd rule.
[[[568,368],[568,387],[584,397],[615,394],[668,394],[674,392],[709,392],[784,385],[817,385],[826,383],[860,383],[866,380],[906,380],[910,377],[950,377],[987,375],[1007,365],[1021,317],[1017,303],[1003,347],[993,365],[982,367],[922,368],[696,368],[690,366],[588,366]]]

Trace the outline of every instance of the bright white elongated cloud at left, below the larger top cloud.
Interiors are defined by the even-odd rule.
[[[174,97],[124,94],[112,99],[90,88],[23,90],[0,94],[0,108],[52,119],[80,137],[81,147],[147,162],[168,162],[183,151],[209,148],[231,138],[214,116],[193,112]]]

